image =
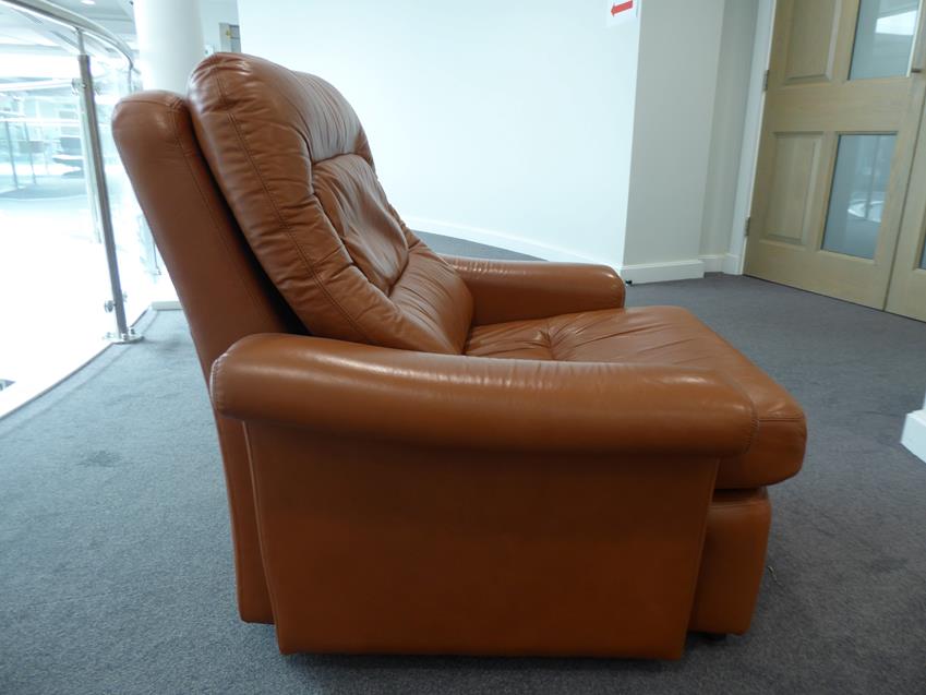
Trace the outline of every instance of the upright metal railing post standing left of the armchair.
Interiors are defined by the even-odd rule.
[[[122,281],[119,278],[119,261],[116,249],[116,232],[112,227],[112,209],[109,206],[109,191],[106,185],[106,169],[103,159],[103,143],[99,135],[99,119],[94,99],[93,73],[91,72],[91,57],[84,47],[84,33],[77,32],[77,47],[80,55],[77,62],[81,67],[81,95],[83,97],[84,113],[87,119],[87,136],[89,139],[89,172],[94,183],[94,193],[99,209],[99,221],[103,230],[103,245],[106,250],[106,263],[109,266],[109,284],[112,289],[112,310],[116,313],[116,333],[109,334],[113,343],[135,343],[141,340],[125,320],[125,300],[122,296]]]

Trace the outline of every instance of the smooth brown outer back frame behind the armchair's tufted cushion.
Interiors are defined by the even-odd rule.
[[[244,336],[304,333],[216,187],[184,100],[166,92],[133,94],[116,107],[112,134],[177,288],[205,378],[215,359]],[[243,428],[219,415],[216,422],[231,506],[239,607],[245,620],[269,622]]]

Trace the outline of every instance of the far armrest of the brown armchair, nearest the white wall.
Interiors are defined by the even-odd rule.
[[[443,259],[472,293],[474,325],[624,305],[624,281],[606,265]]]

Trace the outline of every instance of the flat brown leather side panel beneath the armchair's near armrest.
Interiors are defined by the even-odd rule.
[[[246,431],[280,651],[681,657],[715,459]]]

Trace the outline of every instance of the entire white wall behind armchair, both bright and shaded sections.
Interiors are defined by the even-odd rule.
[[[649,281],[738,267],[769,1],[644,0],[639,23],[612,28],[600,0],[239,13],[245,52],[345,93],[413,228]]]

